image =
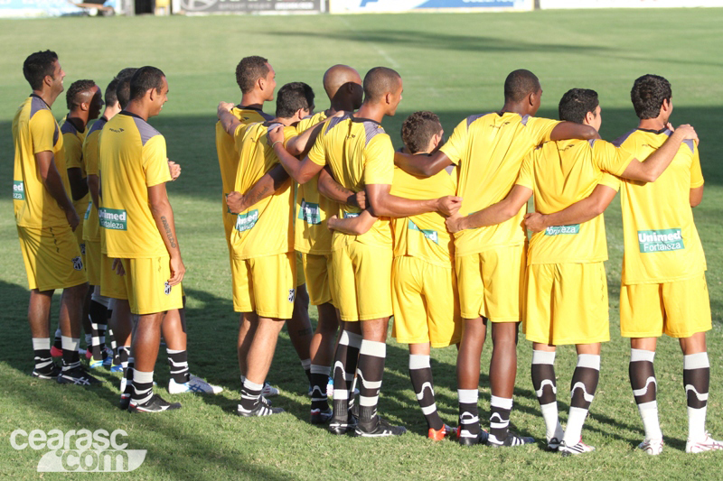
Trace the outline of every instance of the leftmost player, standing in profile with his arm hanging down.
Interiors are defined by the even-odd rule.
[[[88,283],[80,247],[73,236],[80,218],[68,197],[70,186],[61,129],[51,106],[63,90],[65,72],[54,51],[38,51],[23,63],[33,93],[13,119],[13,204],[30,286],[28,321],[33,336],[33,376],[65,384],[96,384],[80,366],[78,345],[83,297]],[[62,372],[50,353],[52,294],[62,289],[60,325]]]

